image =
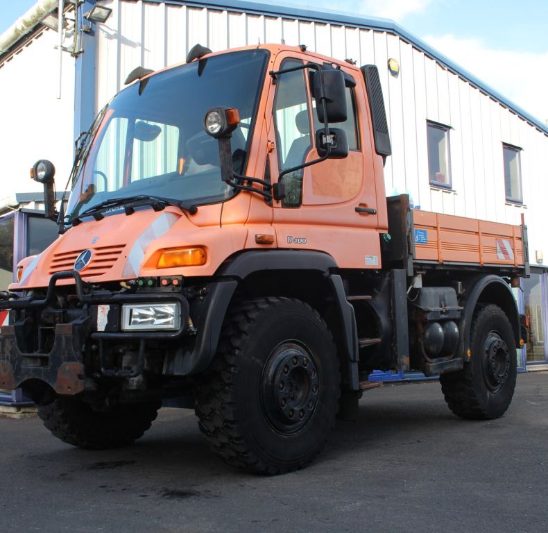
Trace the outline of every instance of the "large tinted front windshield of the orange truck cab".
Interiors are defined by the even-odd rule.
[[[137,82],[112,99],[69,198],[71,219],[111,198],[160,196],[187,205],[234,194],[223,183],[219,144],[205,133],[209,108],[237,108],[234,171],[243,174],[268,51],[225,53]]]

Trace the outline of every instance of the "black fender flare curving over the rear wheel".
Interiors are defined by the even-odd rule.
[[[495,274],[474,276],[465,282],[464,295],[464,298],[461,299],[463,314],[460,328],[461,346],[459,348],[464,361],[470,360],[470,330],[474,319],[474,310],[480,301],[494,303],[501,307],[512,326],[516,347],[520,347],[520,313],[508,283]]]

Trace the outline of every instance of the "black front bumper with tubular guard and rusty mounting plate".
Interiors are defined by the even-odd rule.
[[[74,278],[76,312],[69,320],[49,325],[40,324],[37,316],[50,308],[55,300],[55,285],[60,279]],[[180,305],[180,327],[175,331],[130,331],[120,329],[120,310],[124,303],[168,303]],[[19,298],[1,301],[1,309],[24,310],[19,319],[0,328],[0,388],[16,389],[28,380],[40,380],[49,384],[58,394],[78,394],[93,389],[94,381],[86,375],[84,354],[89,341],[98,346],[101,374],[106,377],[132,378],[142,372],[145,346],[148,341],[177,340],[187,331],[189,303],[177,292],[123,292],[113,293],[94,290],[85,285],[77,272],[55,273],[49,282],[43,299]],[[74,306],[73,306],[74,309]],[[55,312],[55,310],[53,311]],[[105,319],[106,314],[106,319]],[[102,319],[98,319],[99,316]],[[60,316],[64,316],[60,314]],[[46,331],[48,330],[48,331]],[[37,339],[28,342],[28,335]],[[45,335],[49,341],[44,342]],[[53,336],[53,342],[51,338]],[[130,370],[107,368],[105,346],[109,343],[128,343],[138,346],[138,364]],[[25,346],[36,349],[25,350]],[[23,348],[23,349],[22,349]]]

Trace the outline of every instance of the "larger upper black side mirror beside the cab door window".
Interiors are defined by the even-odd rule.
[[[348,118],[343,71],[337,69],[315,71],[312,76],[312,90],[316,98],[318,120],[322,124],[344,122]],[[323,101],[325,101],[327,120],[324,117]]]

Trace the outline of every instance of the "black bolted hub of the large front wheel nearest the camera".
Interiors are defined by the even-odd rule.
[[[282,433],[303,428],[316,409],[320,384],[314,359],[305,346],[283,343],[266,362],[261,399],[268,422]]]

